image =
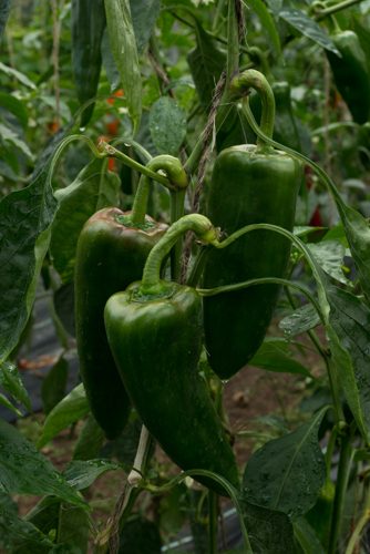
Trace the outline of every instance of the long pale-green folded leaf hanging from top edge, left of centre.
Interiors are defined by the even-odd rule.
[[[111,50],[121,75],[134,134],[142,116],[142,79],[129,0],[104,0]]]

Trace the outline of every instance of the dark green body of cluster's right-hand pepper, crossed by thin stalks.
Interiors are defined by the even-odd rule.
[[[206,195],[206,215],[230,235],[250,224],[291,230],[301,182],[299,162],[271,148],[233,146],[216,158]],[[203,286],[213,288],[261,277],[284,277],[290,253],[285,237],[253,230],[223,250],[212,249]],[[264,340],[279,287],[257,285],[204,298],[205,346],[212,369],[228,379]]]

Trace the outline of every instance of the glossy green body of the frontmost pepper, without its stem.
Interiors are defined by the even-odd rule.
[[[172,283],[152,298],[134,283],[109,299],[105,327],[132,403],[167,455],[183,470],[212,470],[238,486],[233,450],[197,371],[203,330],[196,290]],[[195,479],[225,494],[214,481]]]

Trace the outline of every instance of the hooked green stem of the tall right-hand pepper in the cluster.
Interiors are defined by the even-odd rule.
[[[243,98],[243,102],[248,103],[248,93],[255,89],[260,96],[263,111],[260,116],[260,130],[273,138],[275,125],[275,98],[273,89],[266,76],[257,70],[249,69],[235,76],[230,83],[230,91],[234,96]],[[257,137],[257,146],[267,147],[267,142],[260,136]]]

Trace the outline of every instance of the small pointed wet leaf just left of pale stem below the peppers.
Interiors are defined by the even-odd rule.
[[[76,491],[88,489],[106,471],[122,469],[109,460],[73,460],[64,471],[64,478]]]

